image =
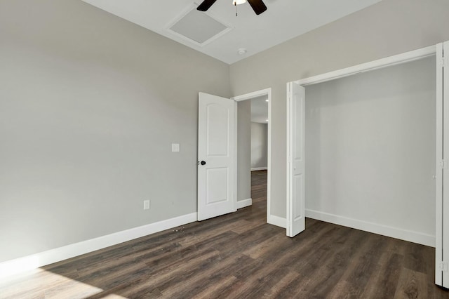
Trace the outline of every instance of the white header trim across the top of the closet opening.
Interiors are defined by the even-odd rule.
[[[374,60],[366,63],[362,63],[361,65],[354,65],[353,67],[347,67],[344,69],[338,69],[333,72],[328,72],[325,74],[320,74],[314,77],[308,77],[305,79],[300,79],[295,81],[295,83],[300,84],[302,86],[310,85],[310,84],[318,84],[334,79],[340,79],[343,77],[351,76],[353,74],[361,73],[361,72],[369,72],[374,69],[380,69],[382,67],[389,67],[391,65],[398,65],[404,62],[410,62],[413,60],[418,60],[421,58],[426,58],[431,55],[435,55],[436,46],[429,46],[426,48],[420,48],[415,51],[410,51],[394,56],[390,56],[387,58],[382,58],[379,60]]]

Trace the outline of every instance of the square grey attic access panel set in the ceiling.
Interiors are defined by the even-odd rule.
[[[185,15],[181,15],[168,27],[168,30],[188,41],[204,46],[210,41],[229,32],[232,28],[215,20],[206,13],[192,8]]]

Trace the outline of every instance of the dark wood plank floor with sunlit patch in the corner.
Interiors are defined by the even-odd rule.
[[[266,171],[253,206],[0,283],[0,298],[449,298],[434,248],[307,219],[266,224]]]

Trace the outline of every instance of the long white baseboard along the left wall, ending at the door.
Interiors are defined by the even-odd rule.
[[[163,230],[168,230],[173,227],[185,225],[197,220],[197,213],[182,215],[159,222],[154,222],[149,225],[135,227],[130,230],[123,230],[115,232],[114,234],[107,234],[102,237],[81,241],[79,243],[54,248],[41,253],[27,255],[23,258],[16,258],[15,260],[7,260],[0,263],[0,279],[11,277],[15,274],[34,270],[36,268],[67,260],[67,258],[74,258],[75,256],[96,251],[112,245],[120,244],[132,239],[154,234]]]

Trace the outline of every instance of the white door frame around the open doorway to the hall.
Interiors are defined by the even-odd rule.
[[[257,98],[262,95],[268,96],[268,138],[267,138],[267,223],[271,223],[272,215],[271,215],[271,185],[272,185],[272,88],[261,89],[260,91],[253,91],[252,93],[245,93],[243,95],[237,95],[231,100],[235,100],[236,102],[241,102],[244,100],[250,100],[252,98]],[[237,112],[238,113],[238,112]],[[237,115],[237,114],[236,114]],[[238,117],[236,117],[237,119]],[[235,133],[235,144],[234,148],[235,157],[237,157],[237,121],[234,123],[234,133]],[[235,185],[237,193],[237,159],[235,160]],[[237,199],[236,199],[237,200]],[[274,224],[274,223],[271,223]]]

